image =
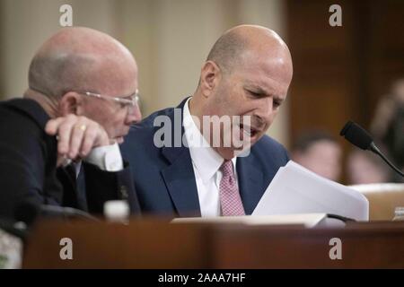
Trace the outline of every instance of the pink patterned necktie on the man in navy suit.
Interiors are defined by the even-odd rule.
[[[223,216],[245,215],[239,188],[234,180],[233,162],[224,161],[220,170],[223,173],[220,181],[220,206]]]

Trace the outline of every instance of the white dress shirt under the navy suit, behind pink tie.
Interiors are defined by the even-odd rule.
[[[200,133],[189,112],[189,100],[184,105],[182,121],[198,188],[200,213],[202,217],[220,216],[219,187],[223,175],[219,169],[224,159],[215,152]],[[236,161],[237,158],[234,157],[232,159],[234,178],[238,184],[237,173],[234,169]]]

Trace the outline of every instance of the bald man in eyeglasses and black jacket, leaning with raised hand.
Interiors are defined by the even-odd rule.
[[[22,203],[139,212],[119,143],[141,118],[137,66],[119,41],[66,28],[33,57],[23,99],[0,104],[0,217]]]

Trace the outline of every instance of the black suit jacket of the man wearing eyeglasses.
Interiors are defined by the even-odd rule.
[[[48,115],[34,100],[0,104],[0,216],[13,218],[22,202],[55,204],[102,213],[107,200],[128,199],[138,213],[128,166],[108,172],[83,163],[83,196],[75,178],[57,169],[57,141],[44,132]],[[84,198],[84,200],[83,200]]]

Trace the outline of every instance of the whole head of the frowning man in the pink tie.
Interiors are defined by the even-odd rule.
[[[220,120],[207,124],[211,130],[219,126],[216,139],[221,144],[215,152],[232,159],[266,133],[285,102],[292,74],[289,49],[276,32],[261,26],[236,26],[224,32],[211,49],[201,68],[197,91],[189,100],[189,112],[198,117],[201,130],[206,116],[231,118],[231,122],[242,118],[242,124],[235,120],[230,127],[222,126]],[[237,131],[245,143],[242,149],[225,146],[225,135],[236,138]],[[209,143],[214,133],[204,135]]]

